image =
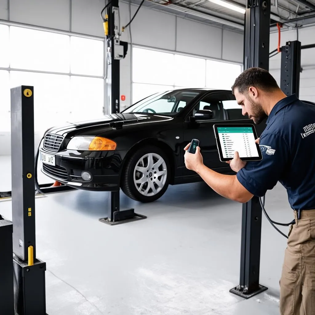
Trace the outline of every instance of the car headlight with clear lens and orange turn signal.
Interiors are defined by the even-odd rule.
[[[109,151],[115,150],[117,143],[103,137],[73,137],[68,143],[68,150]]]

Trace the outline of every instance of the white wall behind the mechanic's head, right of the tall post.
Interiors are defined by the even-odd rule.
[[[298,40],[301,45],[309,45],[315,43],[314,28],[308,27],[298,31]],[[297,40],[296,30],[282,31],[280,37],[280,47],[284,46],[288,41]],[[278,45],[278,33],[270,34],[270,51],[276,49]],[[301,100],[309,100],[315,102],[315,48],[301,50],[301,67],[300,73],[300,91],[299,98]],[[280,67],[281,54],[277,54],[270,58],[269,69],[280,86]]]

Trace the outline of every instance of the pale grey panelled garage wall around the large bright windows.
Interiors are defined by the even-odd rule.
[[[0,0],[0,20],[103,38],[100,19],[103,7],[104,0]],[[121,26],[129,22],[130,14],[133,16],[136,9],[137,6],[120,1]],[[130,28],[135,45],[242,63],[243,35],[240,33],[144,7]],[[121,102],[122,109],[130,105],[132,96],[131,73],[135,69],[131,69],[131,37],[127,28],[121,38],[129,43],[127,56],[120,63],[120,92],[126,96]],[[36,132],[37,146],[41,130]],[[0,155],[10,154],[10,134],[1,131],[1,126],[0,147]]]

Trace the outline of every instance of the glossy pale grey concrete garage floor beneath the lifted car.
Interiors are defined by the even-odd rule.
[[[8,185],[9,158],[0,157],[0,166]],[[148,218],[109,226],[98,221],[107,200],[106,192],[85,191],[36,198],[49,315],[279,314],[286,239],[264,216],[260,283],[268,290],[244,300],[229,293],[239,283],[241,204],[204,183],[169,186],[151,204],[121,193],[121,209]],[[292,220],[281,185],[267,193],[265,207],[275,221]],[[10,200],[0,202],[0,214],[11,218]]]

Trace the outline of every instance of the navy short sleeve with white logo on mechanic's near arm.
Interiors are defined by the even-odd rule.
[[[281,180],[289,161],[289,146],[284,137],[271,133],[261,135],[259,146],[262,160],[248,161],[236,176],[250,193],[262,197]]]

